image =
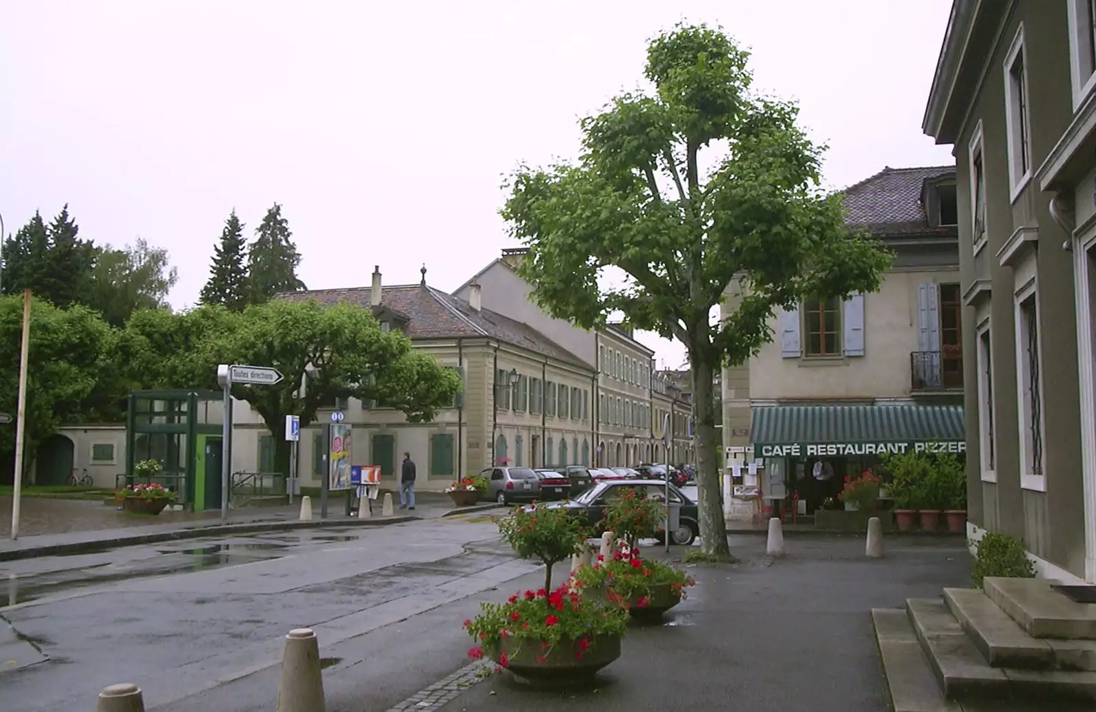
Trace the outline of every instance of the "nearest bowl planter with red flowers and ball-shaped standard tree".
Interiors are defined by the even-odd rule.
[[[490,657],[525,678],[584,678],[620,656],[628,610],[583,596],[568,579],[551,586],[551,567],[586,546],[586,532],[564,508],[518,507],[499,520],[502,539],[522,559],[545,565],[545,586],[480,604],[465,621],[476,641],[470,657]]]

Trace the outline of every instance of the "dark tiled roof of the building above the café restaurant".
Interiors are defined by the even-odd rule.
[[[954,165],[884,168],[844,191],[845,222],[877,233],[931,230],[921,203],[925,181],[955,176]]]

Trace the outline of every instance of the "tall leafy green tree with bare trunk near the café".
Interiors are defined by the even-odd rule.
[[[590,329],[623,312],[685,345],[701,543],[715,555],[728,543],[713,374],[772,338],[776,309],[874,291],[889,261],[845,229],[841,196],[820,188],[822,148],[796,106],[751,91],[747,57],[705,25],[659,35],[644,72],[654,91],[583,119],[578,162],[517,170],[502,210],[529,248],[521,273],[552,315]],[[619,286],[607,286],[609,267],[624,273]],[[732,279],[745,296],[719,323]]]

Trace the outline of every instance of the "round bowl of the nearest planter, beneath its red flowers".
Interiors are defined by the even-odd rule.
[[[591,639],[585,651],[580,651],[575,641],[567,639],[544,651],[537,640],[504,638],[496,648],[484,652],[500,665],[500,657],[505,654],[506,669],[518,677],[571,682],[592,678],[597,670],[620,657],[620,638]],[[538,659],[540,656],[543,658]]]

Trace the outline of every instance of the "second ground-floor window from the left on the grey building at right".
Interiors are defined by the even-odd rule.
[[[1017,299],[1017,374],[1020,399],[1020,485],[1044,490],[1042,471],[1042,374],[1039,367],[1039,317],[1035,287]]]

